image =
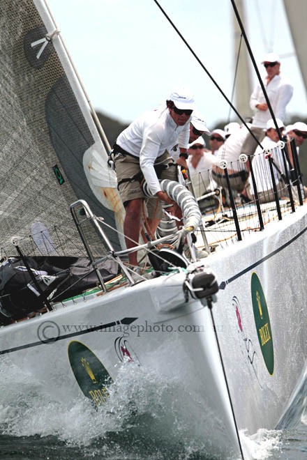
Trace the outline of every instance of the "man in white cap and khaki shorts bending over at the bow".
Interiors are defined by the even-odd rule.
[[[186,88],[175,89],[167,99],[166,107],[146,112],[117,137],[113,147],[114,164],[119,193],[126,208],[123,232],[127,248],[137,245],[140,238],[145,198],[140,185],[143,178],[153,196],[174,205],[161,190],[158,176],[177,180],[177,167],[168,152],[179,143],[180,155],[188,157],[190,118],[194,108],[193,94]],[[151,223],[149,221],[149,225]],[[136,252],[130,253],[128,258],[133,266],[137,266]]]

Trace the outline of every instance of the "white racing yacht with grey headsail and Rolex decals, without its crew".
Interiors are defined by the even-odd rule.
[[[275,201],[230,195],[203,215],[186,185],[163,181],[184,221],[172,244],[140,243],[137,275],[116,177],[47,3],[1,1],[0,41],[1,359],[94,406],[121,366],[156,369],[189,402],[195,436],[247,459],[243,431],[292,427],[306,404],[299,170]]]

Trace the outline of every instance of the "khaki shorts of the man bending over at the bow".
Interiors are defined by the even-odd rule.
[[[170,181],[177,181],[177,167],[174,163],[170,154],[165,151],[163,155],[160,155],[155,161],[155,165],[157,164],[174,164],[174,166],[168,167],[167,169],[163,169],[158,178],[159,179],[169,179]],[[114,158],[115,164],[115,171],[117,173],[117,183],[119,183],[119,194],[121,195],[121,200],[123,201],[123,205],[126,204],[127,201],[131,201],[133,199],[138,198],[147,198],[140,186],[140,181],[142,181],[142,176],[140,176],[141,168],[140,168],[140,158],[133,157],[130,155],[123,155],[122,153],[118,153],[115,155]],[[133,178],[138,175],[138,178],[135,178],[133,181],[126,181],[121,182],[128,178]],[[149,199],[149,201],[156,202],[156,198]],[[159,200],[160,203],[160,200]],[[152,206],[153,211],[156,208]],[[159,207],[159,206],[158,206]],[[162,210],[160,210],[160,214],[162,215]],[[149,215],[149,217],[151,217]]]

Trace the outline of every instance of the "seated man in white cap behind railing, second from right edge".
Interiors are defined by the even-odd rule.
[[[280,132],[283,132],[283,121],[281,121],[279,118],[276,118],[276,123]],[[267,121],[267,128],[264,130],[264,133],[265,137],[262,141],[262,147],[265,151],[263,151],[260,146],[257,146],[252,164],[260,203],[267,203],[268,201],[274,200],[273,182],[269,167],[268,154],[266,153],[266,151],[269,151],[278,146],[278,132],[272,118]],[[283,181],[280,181],[280,171],[283,173],[285,172],[283,157],[280,149],[273,151],[271,153],[271,158],[274,160],[274,164],[276,165],[273,166],[273,171],[277,191],[279,192],[279,196],[282,195],[283,197],[286,197],[287,187]],[[255,199],[255,191],[253,188],[253,181],[251,176],[248,178],[248,185],[249,187],[246,188],[248,198]]]

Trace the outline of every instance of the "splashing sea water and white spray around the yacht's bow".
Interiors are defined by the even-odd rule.
[[[134,363],[121,366],[98,409],[81,396],[51,397],[50,388],[6,359],[0,382],[0,459],[216,459],[193,436],[193,413],[176,384]],[[307,414],[291,431],[241,436],[255,459],[307,458]]]

